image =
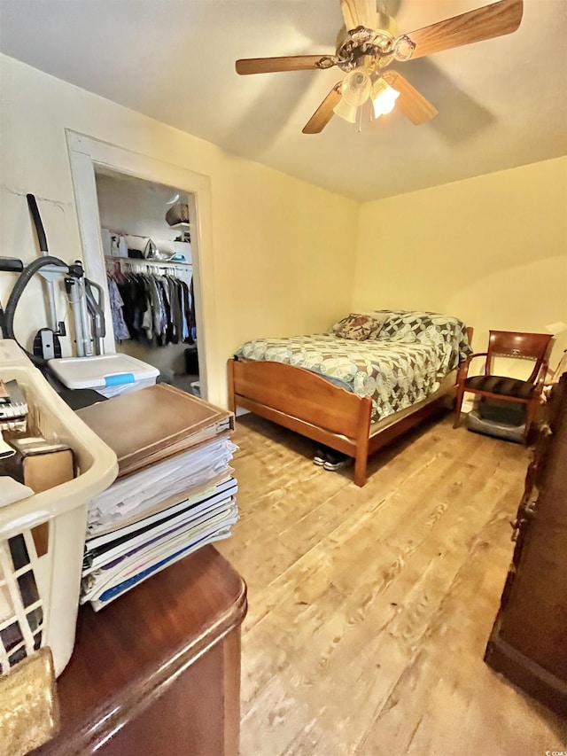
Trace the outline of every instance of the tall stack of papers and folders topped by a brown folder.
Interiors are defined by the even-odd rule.
[[[89,503],[82,603],[95,611],[237,522],[231,413],[159,384],[78,414],[118,457]]]

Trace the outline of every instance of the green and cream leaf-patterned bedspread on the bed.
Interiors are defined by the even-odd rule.
[[[377,422],[437,391],[470,352],[465,326],[457,318],[389,310],[376,339],[342,339],[332,332],[254,339],[236,354],[313,370],[355,394],[369,396]]]

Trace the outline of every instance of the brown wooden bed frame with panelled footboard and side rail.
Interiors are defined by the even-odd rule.
[[[472,329],[468,328],[469,343]],[[283,362],[229,360],[229,409],[249,409],[277,425],[354,458],[354,483],[364,486],[368,457],[447,405],[451,384],[400,419],[371,425],[372,401],[335,386],[311,370]],[[456,370],[454,371],[456,376]],[[395,416],[394,416],[395,417]],[[388,419],[388,418],[386,418]]]

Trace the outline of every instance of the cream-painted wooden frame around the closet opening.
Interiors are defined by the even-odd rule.
[[[71,165],[74,200],[82,243],[85,275],[100,284],[105,296],[105,353],[116,352],[112,314],[108,301],[106,267],[98,213],[98,166],[115,173],[132,175],[151,183],[174,186],[188,194],[191,218],[191,254],[195,318],[197,322],[199,383],[201,395],[216,404],[222,401],[222,370],[214,334],[217,333],[214,306],[214,267],[212,246],[211,183],[210,177],[175,166],[124,147],[102,142],[91,136],[66,129],[67,150]],[[209,379],[210,378],[210,379]],[[214,379],[216,378],[216,379]]]

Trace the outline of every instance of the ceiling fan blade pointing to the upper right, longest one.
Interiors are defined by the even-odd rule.
[[[511,34],[520,26],[523,12],[523,0],[501,0],[500,3],[485,5],[418,29],[408,34],[412,42],[416,43],[412,60],[434,52],[451,50],[462,44]]]

